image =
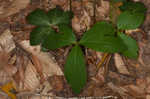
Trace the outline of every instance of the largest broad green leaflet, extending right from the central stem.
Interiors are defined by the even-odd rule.
[[[107,22],[96,23],[89,31],[85,32],[79,42],[88,48],[101,52],[121,52],[126,49],[119,37],[115,37],[112,24]]]

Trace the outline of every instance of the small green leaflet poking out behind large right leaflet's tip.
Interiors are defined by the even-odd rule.
[[[119,33],[119,37],[123,40],[128,48],[127,50],[123,51],[122,54],[129,58],[136,59],[138,57],[138,45],[136,43],[136,40],[123,33]]]

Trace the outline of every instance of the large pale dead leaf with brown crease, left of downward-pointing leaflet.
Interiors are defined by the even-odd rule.
[[[63,75],[52,56],[41,52],[40,46],[30,46],[29,41],[22,41],[20,45],[31,54],[32,63],[30,61],[26,67],[24,87],[20,85],[19,90],[35,91],[40,87],[41,80],[44,82],[49,76]]]

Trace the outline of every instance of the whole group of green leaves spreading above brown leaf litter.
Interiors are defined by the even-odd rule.
[[[113,2],[117,1],[120,0]],[[100,52],[118,52],[129,58],[138,57],[136,41],[120,31],[139,27],[144,21],[146,8],[142,3],[130,1],[123,2],[120,10],[122,13],[117,19],[117,29],[110,22],[97,22],[77,41],[69,26],[72,12],[64,12],[57,7],[47,13],[36,9],[27,16],[27,21],[37,26],[30,33],[30,44],[40,44],[42,48],[49,50],[73,46],[64,66],[64,74],[73,92],[78,94],[87,81],[86,63],[81,46]]]

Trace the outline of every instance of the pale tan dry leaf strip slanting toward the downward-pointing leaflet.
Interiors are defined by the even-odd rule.
[[[40,46],[30,46],[28,40],[22,41],[20,45],[29,53],[35,55],[43,66],[43,74],[45,79],[52,75],[63,75],[63,72],[55,62],[50,53],[41,52]]]

